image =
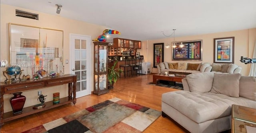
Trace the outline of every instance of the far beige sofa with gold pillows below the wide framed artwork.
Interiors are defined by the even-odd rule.
[[[162,62],[156,65],[156,67],[158,73],[164,73],[168,71],[199,73],[210,72],[212,70],[212,66],[209,63]]]

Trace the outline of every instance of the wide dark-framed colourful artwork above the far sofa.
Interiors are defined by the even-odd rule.
[[[177,42],[172,53],[173,61],[202,61],[202,40]]]

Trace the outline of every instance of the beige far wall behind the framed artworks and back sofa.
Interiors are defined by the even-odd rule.
[[[176,31],[178,32],[178,30]],[[195,31],[196,32],[196,31]],[[238,66],[242,67],[242,75],[248,76],[250,72],[250,64],[245,65],[240,63],[240,57],[252,57],[254,44],[256,41],[256,28],[253,29],[243,29],[238,31],[230,31],[230,32],[220,32],[220,33],[211,33],[204,35],[194,35],[194,36],[186,36],[186,37],[175,37],[175,41],[191,41],[191,40],[203,40],[202,48],[203,48],[203,57],[202,61],[183,61],[190,63],[213,63],[213,53],[214,53],[214,38],[222,38],[222,37],[235,37],[235,50],[234,50],[234,63]],[[151,68],[153,67],[153,46],[154,43],[164,43],[164,45],[171,44],[173,41],[173,37],[171,38],[163,38],[156,40],[147,40],[142,41],[142,49],[139,49],[140,55],[144,55],[144,61],[151,62]],[[164,47],[164,61],[166,62],[177,62],[172,61],[172,48]],[[157,73],[157,68],[153,68],[153,73]]]

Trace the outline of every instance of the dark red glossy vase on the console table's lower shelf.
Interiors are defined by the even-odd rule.
[[[10,98],[13,114],[22,113],[26,97],[22,96],[21,94],[22,92],[16,92],[13,94],[14,96]]]

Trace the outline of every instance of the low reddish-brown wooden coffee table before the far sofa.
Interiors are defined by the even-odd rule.
[[[157,84],[157,80],[166,80],[172,82],[181,82],[181,80],[185,77],[178,77],[178,76],[166,76],[163,74],[154,74],[153,75],[153,84]]]

